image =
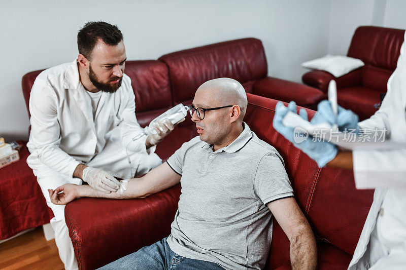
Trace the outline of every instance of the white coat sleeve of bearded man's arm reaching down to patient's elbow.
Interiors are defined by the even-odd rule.
[[[30,143],[39,160],[55,171],[72,177],[80,163],[59,148],[61,138],[57,117],[57,97],[47,82],[37,79],[33,84],[29,98],[29,112],[31,114]]]

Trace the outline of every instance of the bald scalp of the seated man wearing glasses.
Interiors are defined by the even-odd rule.
[[[218,78],[202,84],[197,91],[209,92],[213,99],[218,101],[219,106],[239,105],[241,108],[240,120],[243,120],[248,101],[244,87],[238,81]]]

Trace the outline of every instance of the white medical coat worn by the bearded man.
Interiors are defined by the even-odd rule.
[[[77,60],[41,72],[32,86],[27,164],[38,177],[72,177],[78,164],[100,167],[120,178],[133,177],[140,160],[154,152],[135,114],[130,78],[123,74],[115,93],[101,94],[93,120],[90,96],[79,80]],[[128,153],[128,155],[127,155]],[[130,161],[130,163],[129,163]],[[76,183],[76,181],[72,181]]]

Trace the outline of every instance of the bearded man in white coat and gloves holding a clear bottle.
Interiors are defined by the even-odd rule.
[[[55,217],[51,226],[66,269],[77,269],[64,220],[64,206],[50,202],[48,189],[65,183],[115,192],[120,182],[161,164],[155,145],[174,126],[158,122],[157,134],[132,141],[143,129],[135,96],[125,75],[121,31],[106,22],[89,22],[78,33],[79,56],[41,72],[32,86],[27,164],[37,176]]]

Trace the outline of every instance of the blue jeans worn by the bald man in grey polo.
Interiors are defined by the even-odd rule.
[[[182,257],[171,250],[166,238],[143,247],[99,269],[224,270],[219,264]]]

